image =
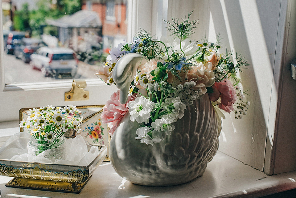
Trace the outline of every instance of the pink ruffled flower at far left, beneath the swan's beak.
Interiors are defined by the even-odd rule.
[[[109,133],[113,134],[117,128],[120,120],[124,114],[128,111],[128,102],[134,100],[132,97],[128,97],[128,100],[125,104],[119,102],[119,90],[111,95],[111,99],[107,101],[106,105],[103,108],[101,115],[102,123],[108,123],[110,127]]]

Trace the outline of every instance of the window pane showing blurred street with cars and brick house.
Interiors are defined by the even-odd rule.
[[[2,2],[6,84],[96,79],[109,50],[127,38],[127,0],[11,2]]]

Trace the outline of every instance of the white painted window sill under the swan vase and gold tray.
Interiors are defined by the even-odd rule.
[[[0,137],[8,138],[17,133],[17,121],[1,123]],[[13,128],[8,128],[13,126]],[[145,187],[134,185],[122,179],[113,170],[110,162],[102,163],[94,172],[80,194],[44,192],[5,187],[11,177],[0,176],[3,197],[27,195],[26,197],[262,197],[296,188],[296,171],[279,175],[265,175],[261,171],[243,164],[218,151],[202,177],[192,182],[172,187]],[[20,196],[22,197],[22,196]],[[23,196],[24,197],[24,196]]]

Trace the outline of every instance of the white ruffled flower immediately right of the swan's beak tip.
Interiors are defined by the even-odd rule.
[[[137,121],[138,123],[147,123],[150,118],[150,112],[153,110],[155,103],[141,96],[133,101],[130,101],[129,112],[130,120]]]

